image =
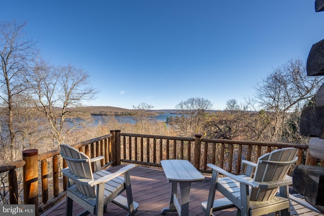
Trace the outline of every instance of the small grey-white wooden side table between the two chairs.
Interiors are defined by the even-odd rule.
[[[168,182],[171,183],[170,206],[164,208],[161,214],[177,211],[179,215],[188,215],[191,182],[204,180],[205,177],[188,160],[161,160],[161,165]],[[181,206],[177,198],[178,183]]]

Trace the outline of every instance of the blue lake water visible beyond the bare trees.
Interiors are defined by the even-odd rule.
[[[179,116],[178,114],[171,114],[171,113],[164,113],[164,114],[159,114],[159,115],[150,115],[151,120],[156,120],[156,121],[167,121],[167,117],[176,117]],[[100,121],[104,122],[109,120],[109,118],[114,117],[119,123],[130,123],[134,124],[136,116],[104,116],[104,115],[93,115],[95,124],[98,124]]]

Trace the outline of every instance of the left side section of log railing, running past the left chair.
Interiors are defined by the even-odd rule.
[[[104,156],[103,167],[115,163],[114,131],[111,134],[72,145],[89,157]],[[60,157],[60,149],[37,154],[36,149],[23,151],[23,160],[0,164],[0,173],[9,171],[9,200],[10,204],[20,204],[18,201],[18,180],[16,170],[23,167],[24,204],[35,204],[36,215],[66,194],[66,180],[61,178],[61,168],[67,167],[65,160]],[[40,171],[38,171],[40,170]],[[38,175],[38,172],[40,175]],[[25,184],[27,183],[27,184]],[[49,184],[50,183],[50,184]],[[28,191],[28,193],[25,193]],[[49,192],[52,191],[50,194]],[[38,195],[39,194],[39,195]],[[41,196],[41,200],[38,197]]]

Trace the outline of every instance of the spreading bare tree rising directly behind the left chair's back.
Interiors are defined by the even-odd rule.
[[[97,91],[89,86],[89,74],[72,65],[54,67],[39,60],[26,77],[33,90],[34,104],[48,119],[53,147],[74,128],[84,124],[79,109],[84,101],[95,99]]]

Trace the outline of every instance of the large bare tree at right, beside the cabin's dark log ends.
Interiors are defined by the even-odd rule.
[[[271,142],[282,141],[287,120],[291,114],[299,115],[305,104],[316,94],[322,77],[306,75],[305,65],[300,59],[291,59],[274,69],[262,82],[258,83],[256,98],[268,115]],[[269,120],[270,119],[270,120]]]

